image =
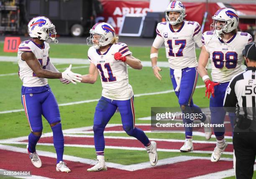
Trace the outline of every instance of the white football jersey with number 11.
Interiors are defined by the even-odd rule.
[[[115,60],[114,55],[120,52],[123,56],[131,54],[124,43],[111,45],[101,54],[99,50],[90,47],[88,59],[98,69],[102,83],[102,96],[113,100],[127,100],[133,97],[133,89],[128,82],[128,70],[125,62]]]

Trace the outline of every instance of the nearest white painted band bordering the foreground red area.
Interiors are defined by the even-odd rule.
[[[2,145],[2,144],[0,144],[0,149],[13,151],[13,152],[27,153],[26,149],[24,149],[24,148],[6,146],[6,145]],[[40,151],[40,150],[37,150],[36,152],[38,153],[39,156],[51,157],[51,158],[56,159],[56,154],[53,152],[44,152],[44,151]],[[95,164],[95,160],[84,159],[81,157],[74,157],[74,156],[70,156],[70,155],[63,155],[63,159],[69,160],[72,162],[80,162],[80,163],[84,163],[84,164]],[[191,156],[172,157],[172,158],[168,158],[168,159],[159,160],[157,163],[157,166],[166,165],[166,164],[174,164],[177,162],[185,162],[185,161],[194,160],[194,159],[209,160],[210,157],[191,157]],[[232,161],[232,159],[230,159],[230,158],[221,158],[220,160]],[[149,162],[143,162],[143,163],[131,164],[131,165],[122,165],[122,164],[106,162],[106,165],[107,165],[107,167],[110,167],[110,168],[116,168],[116,169],[127,170],[127,171],[136,171],[139,169],[146,169],[146,168],[152,167]]]

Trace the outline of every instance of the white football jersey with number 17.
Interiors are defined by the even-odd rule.
[[[164,42],[170,68],[197,67],[195,43],[202,47],[202,32],[198,22],[184,21],[177,31],[168,22],[160,22],[156,27],[156,34]]]

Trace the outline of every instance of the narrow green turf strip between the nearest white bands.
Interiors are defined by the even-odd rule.
[[[26,148],[24,144],[8,144],[10,146],[22,147]],[[36,146],[37,150],[43,150],[48,152],[54,152],[54,146]],[[138,164],[141,162],[148,162],[148,154],[145,151],[137,151],[137,150],[123,150],[123,149],[105,149],[105,161],[113,162],[123,165],[130,164]],[[86,148],[86,152],[84,148],[81,147],[65,147],[64,149],[65,155],[71,155],[74,157],[81,157],[86,159],[95,159],[95,149],[94,148]],[[122,156],[117,157],[117,156]],[[166,159],[170,157],[178,157],[178,156],[195,156],[195,157],[209,157],[211,154],[200,154],[200,153],[181,153],[181,152],[158,152],[158,159]],[[232,155],[223,154],[222,157],[232,158]]]

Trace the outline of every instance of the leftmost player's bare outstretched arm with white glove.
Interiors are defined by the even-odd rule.
[[[52,72],[50,70],[42,69],[40,62],[32,52],[23,52],[21,54],[21,59],[26,61],[28,66],[33,70],[33,72],[39,78],[49,78],[49,79],[63,78],[73,82],[74,84],[76,84],[76,82],[74,81],[80,82],[81,78],[79,76],[81,75],[71,72],[70,71],[72,67],[71,65],[69,66],[69,68],[67,68],[67,70],[65,70],[62,73],[59,73],[59,72]]]

